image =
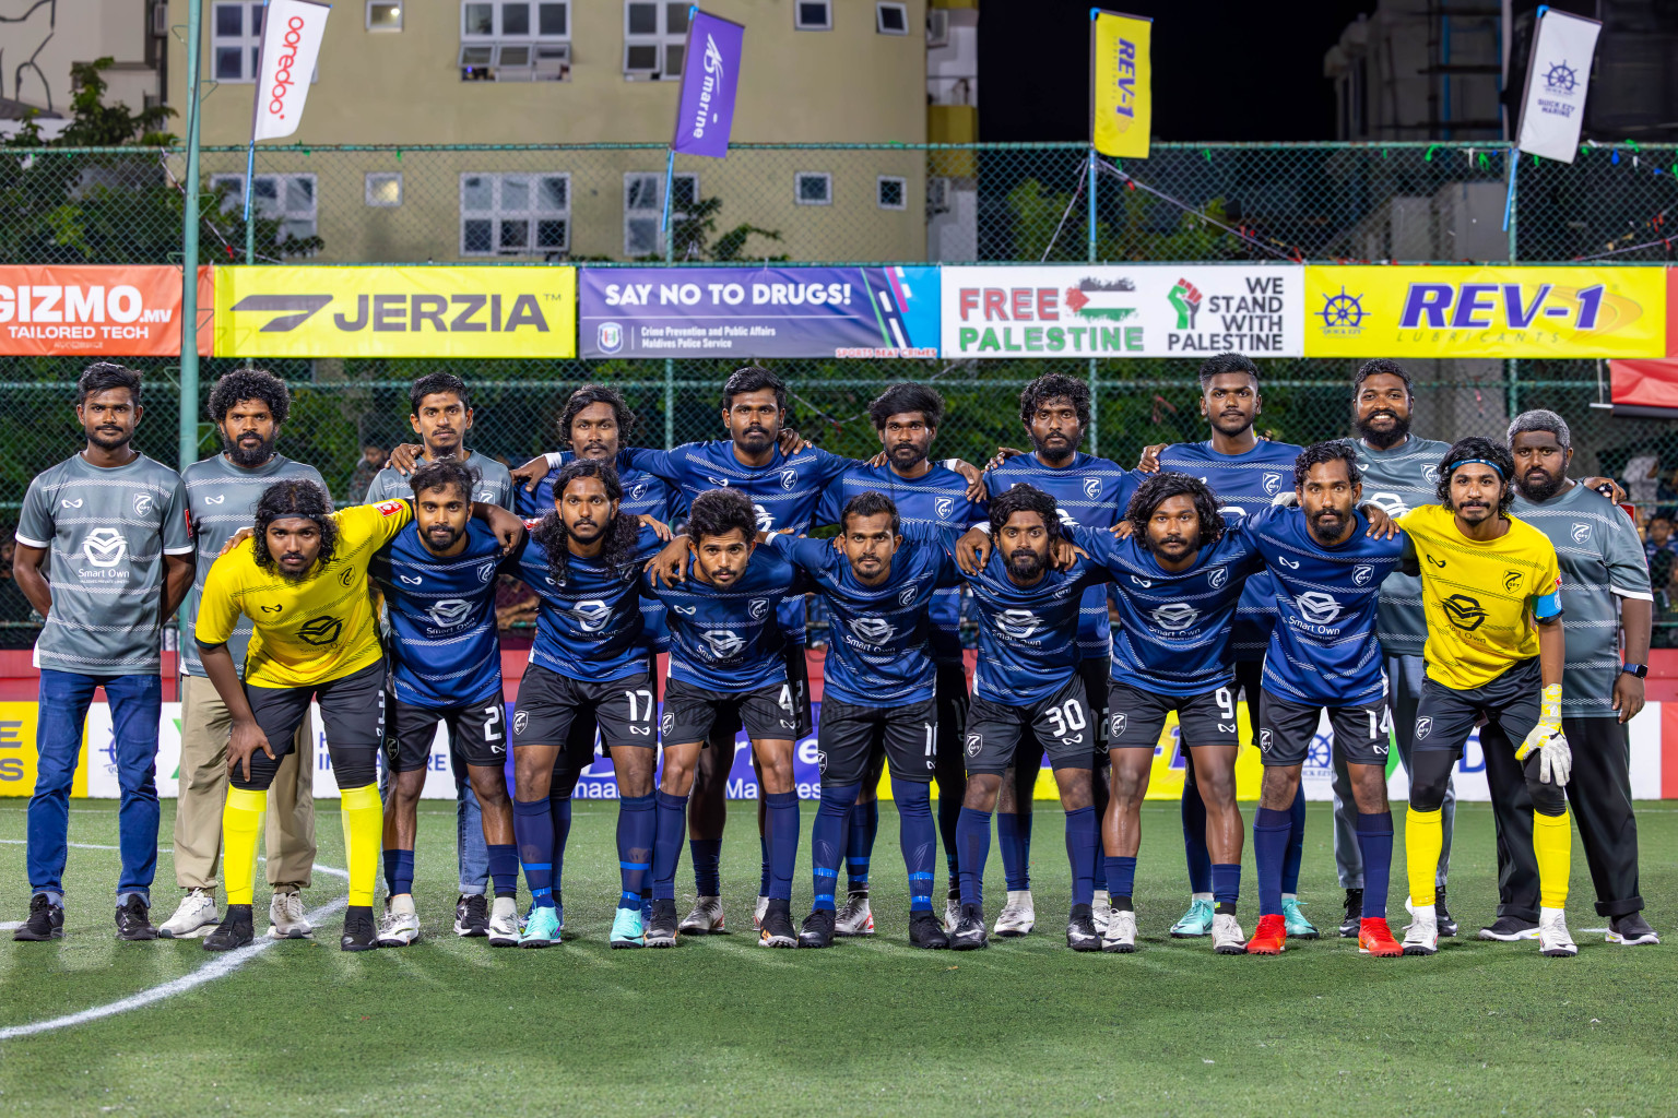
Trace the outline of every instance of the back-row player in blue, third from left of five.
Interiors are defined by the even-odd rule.
[[[945,401],[925,384],[893,384],[868,406],[879,434],[884,463],[856,464],[839,481],[827,486],[816,510],[817,525],[841,523],[842,510],[862,493],[876,491],[891,498],[904,528],[967,530],[982,523],[983,494],[972,494],[967,476],[948,463],[930,459],[933,439],[943,422]],[[963,466],[963,463],[955,463]],[[961,662],[961,592],[958,587],[938,590],[931,600],[928,644],[936,662],[938,711],[933,726],[936,739],[938,831],[943,836],[950,888],[945,900],[945,924],[955,927],[961,907],[956,870],[955,825],[961,818],[967,795],[967,768],[961,741],[967,729],[967,669]],[[824,707],[826,709],[826,707]],[[836,920],[837,935],[869,935],[874,917],[868,900],[868,867],[879,830],[879,766],[884,754],[876,751],[862,776],[862,791],[851,811],[846,831],[847,897]],[[903,810],[901,801],[898,810]],[[913,934],[913,932],[911,932]]]

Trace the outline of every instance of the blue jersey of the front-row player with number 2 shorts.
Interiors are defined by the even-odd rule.
[[[502,543],[466,521],[466,550],[433,555],[409,525],[373,556],[367,573],[384,590],[391,622],[396,699],[431,711],[483,702],[502,689],[495,632],[495,573]]]

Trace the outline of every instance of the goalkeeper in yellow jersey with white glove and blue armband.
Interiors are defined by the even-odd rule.
[[[1564,912],[1572,825],[1562,786],[1572,756],[1562,736],[1561,572],[1549,536],[1509,515],[1514,473],[1503,446],[1462,439],[1440,461],[1440,505],[1398,520],[1410,543],[1406,568],[1421,575],[1428,619],[1404,826],[1413,907],[1406,955],[1438,950],[1433,890],[1443,841],[1440,808],[1480,717],[1522,743],[1515,759],[1532,793],[1539,949],[1545,955],[1579,954]]]

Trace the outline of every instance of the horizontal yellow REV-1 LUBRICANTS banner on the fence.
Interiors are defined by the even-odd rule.
[[[1661,268],[1307,267],[1307,357],[1660,357]]]

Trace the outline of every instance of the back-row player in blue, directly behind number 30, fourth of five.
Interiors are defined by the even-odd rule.
[[[1060,526],[1111,528],[1124,520],[1124,508],[1136,491],[1138,479],[1128,469],[1104,458],[1084,454],[1077,448],[1089,431],[1089,386],[1074,377],[1049,374],[1032,380],[1020,392],[1020,424],[1032,441],[1032,453],[1012,453],[985,474],[990,494],[1000,494],[1017,484],[1030,484],[1055,499]],[[1102,774],[1107,758],[1094,734],[1101,732],[1102,702],[1107,687],[1107,600],[1106,590],[1091,587],[1084,592],[1084,607],[1077,619],[1079,675],[1084,679],[1086,701],[1096,711],[1091,732],[1091,751],[1096,776],[1094,795],[1097,815],[1107,806],[1107,781]],[[1015,758],[1010,779],[1002,784],[997,805],[997,845],[1002,848],[1002,870],[1008,887],[1008,900],[997,915],[997,935],[1025,935],[1035,925],[1032,905],[1030,851],[1032,851],[1032,796],[1042,771],[1044,749],[1030,731]],[[1096,927],[1107,919],[1106,868],[1096,867],[1094,893]]]

